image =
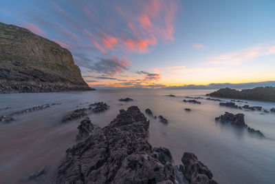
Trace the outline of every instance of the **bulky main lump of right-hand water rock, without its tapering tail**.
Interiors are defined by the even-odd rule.
[[[221,121],[221,123],[231,123],[232,125],[236,125],[239,127],[247,127],[244,119],[245,114],[232,114],[229,112],[225,112],[225,114],[216,117],[216,121]]]

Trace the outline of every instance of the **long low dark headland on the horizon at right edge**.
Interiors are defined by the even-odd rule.
[[[275,102],[275,88],[274,87],[259,87],[249,90],[234,90],[230,88],[223,88],[206,94],[220,98],[229,99],[245,99],[254,101],[272,101]]]

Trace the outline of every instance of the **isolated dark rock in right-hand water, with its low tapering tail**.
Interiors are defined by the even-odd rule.
[[[254,130],[252,127],[248,127],[248,125],[245,124],[244,116],[245,114],[232,114],[229,112],[225,112],[225,114],[216,117],[215,120],[220,121],[221,123],[230,123],[237,127],[247,127],[248,132],[264,137],[263,133],[260,130]]]

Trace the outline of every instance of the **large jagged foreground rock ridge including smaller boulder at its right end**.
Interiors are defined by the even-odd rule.
[[[136,106],[120,110],[102,131],[66,151],[56,183],[183,183],[185,177],[190,183],[216,183],[195,156],[184,156],[181,170],[175,170],[170,151],[148,143],[148,127]]]

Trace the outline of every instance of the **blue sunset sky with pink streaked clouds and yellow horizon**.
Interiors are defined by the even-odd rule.
[[[275,81],[274,0],[0,0],[0,21],[67,48],[95,88]]]

